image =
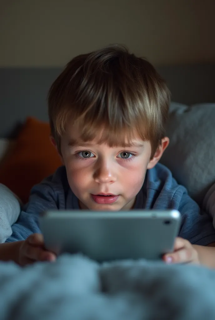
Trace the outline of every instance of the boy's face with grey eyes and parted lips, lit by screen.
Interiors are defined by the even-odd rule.
[[[71,145],[74,140],[78,143]],[[95,140],[83,143],[78,131],[68,127],[61,139],[61,154],[69,186],[79,199],[81,209],[131,209],[143,185],[146,170],[154,167],[168,145],[168,138],[164,140],[150,160],[151,144],[138,136],[130,147],[110,148]]]

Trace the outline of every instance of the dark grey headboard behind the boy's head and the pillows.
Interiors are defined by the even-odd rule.
[[[61,68],[0,68],[0,138],[12,137],[27,116],[48,121],[46,96]],[[215,64],[157,68],[172,100],[215,102]]]

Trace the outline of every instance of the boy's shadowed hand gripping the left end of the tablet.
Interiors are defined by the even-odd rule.
[[[45,250],[43,235],[35,233],[30,235],[20,245],[19,264],[25,266],[36,261],[54,261],[56,255]]]

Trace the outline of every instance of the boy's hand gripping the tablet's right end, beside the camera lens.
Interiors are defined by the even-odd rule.
[[[198,252],[187,240],[177,237],[174,251],[163,256],[167,263],[195,263],[200,264]]]

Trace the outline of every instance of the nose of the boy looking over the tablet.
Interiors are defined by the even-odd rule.
[[[107,163],[100,163],[95,171],[94,179],[97,183],[113,183],[116,181],[116,176],[113,168]]]

